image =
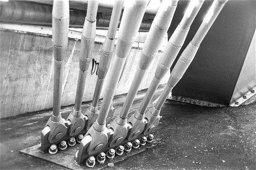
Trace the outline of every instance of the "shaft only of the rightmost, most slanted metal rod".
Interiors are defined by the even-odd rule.
[[[192,41],[189,43],[187,48],[181,54],[179,60],[177,61],[170,78],[168,79],[168,83],[164,88],[164,91],[160,95],[158,101],[155,104],[155,109],[160,110],[164,104],[164,101],[170,94],[172,88],[179,82],[179,80],[184,75],[185,71],[188,69],[190,63],[196,55],[197,49],[199,48],[201,42],[203,41],[205,35],[209,31],[212,26],[214,20],[217,18],[220,13],[222,7],[225,5],[227,1],[217,1],[215,0],[210,6],[207,15],[204,18],[203,23],[200,25],[199,29],[196,32],[196,35],[193,37]]]

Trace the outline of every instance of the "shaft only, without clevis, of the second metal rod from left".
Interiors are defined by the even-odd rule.
[[[98,10],[98,1],[89,1],[82,29],[82,38],[79,53],[79,79],[76,90],[75,111],[80,111],[82,104],[82,96],[84,95],[85,80],[92,58],[95,32],[96,32],[96,16]]]

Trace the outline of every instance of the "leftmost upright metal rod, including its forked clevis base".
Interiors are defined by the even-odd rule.
[[[53,112],[41,132],[41,150],[48,150],[68,131],[68,124],[60,114],[61,90],[64,74],[64,57],[68,46],[69,2],[54,1],[52,10],[52,42],[54,57]]]

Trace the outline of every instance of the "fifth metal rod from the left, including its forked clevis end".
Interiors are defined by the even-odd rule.
[[[127,124],[127,114],[130,111],[131,105],[135,99],[135,96],[141,86],[144,73],[148,67],[150,67],[156,54],[158,53],[159,46],[167,33],[167,29],[170,27],[172,17],[177,7],[177,1],[164,1],[159,8],[158,13],[152,23],[150,31],[148,32],[142,53],[141,59],[137,67],[133,82],[126,96],[125,103],[119,116],[112,121],[108,127],[113,131],[112,138],[110,139],[110,146],[118,146],[123,139],[127,137],[129,130],[133,124]]]

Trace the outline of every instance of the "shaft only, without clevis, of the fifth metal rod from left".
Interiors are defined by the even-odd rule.
[[[130,111],[131,105],[135,99],[135,96],[141,86],[144,73],[151,65],[156,54],[158,53],[159,46],[163,41],[164,35],[167,32],[167,29],[170,27],[172,17],[177,7],[176,1],[164,1],[160,6],[158,13],[155,16],[155,19],[151,25],[150,31],[148,32],[146,41],[144,43],[142,53],[140,55],[139,65],[137,67],[133,82],[131,83],[129,92],[126,96],[125,103],[123,104],[122,110],[119,113],[119,116],[122,119],[127,117],[127,114]]]

